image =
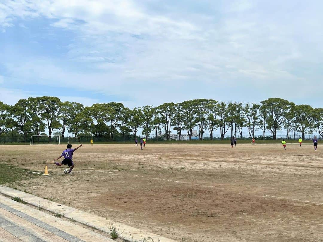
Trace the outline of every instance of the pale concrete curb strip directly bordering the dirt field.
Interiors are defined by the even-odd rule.
[[[87,225],[89,227],[93,227],[95,229],[99,229],[102,232],[109,233],[109,223],[113,222],[112,220],[106,219],[104,217],[99,217],[97,215],[93,215],[87,212],[83,212],[76,208],[68,207],[56,202],[51,202],[47,199],[40,198],[13,188],[5,187],[0,185],[0,193],[9,196],[9,197],[19,197],[27,204],[33,205],[35,207],[41,207],[44,210],[49,212],[57,213],[64,215],[64,217],[73,219],[81,224]],[[116,227],[119,226],[119,232],[122,232],[120,236],[121,239],[128,240],[131,242],[141,242],[146,241],[148,237],[151,238],[151,242],[176,242],[175,240],[162,237],[153,233],[141,231],[140,229],[122,224],[115,223]],[[131,236],[130,236],[131,234]]]

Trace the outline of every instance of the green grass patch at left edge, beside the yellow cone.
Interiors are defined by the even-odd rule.
[[[0,163],[0,184],[12,184],[14,182],[23,181],[35,176],[39,175],[26,172],[19,166],[10,166]]]

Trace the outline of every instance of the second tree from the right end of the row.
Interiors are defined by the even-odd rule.
[[[302,139],[304,134],[312,134],[314,125],[311,122],[314,109],[309,105],[294,105],[291,108],[291,113],[295,115],[294,124],[296,130],[302,133]]]

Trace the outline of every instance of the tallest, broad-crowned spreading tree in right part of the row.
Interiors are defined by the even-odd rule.
[[[276,139],[277,130],[281,129],[285,121],[285,113],[290,108],[290,102],[282,98],[268,98],[260,102],[262,104],[261,109],[266,112],[267,129],[273,135],[273,139]]]

